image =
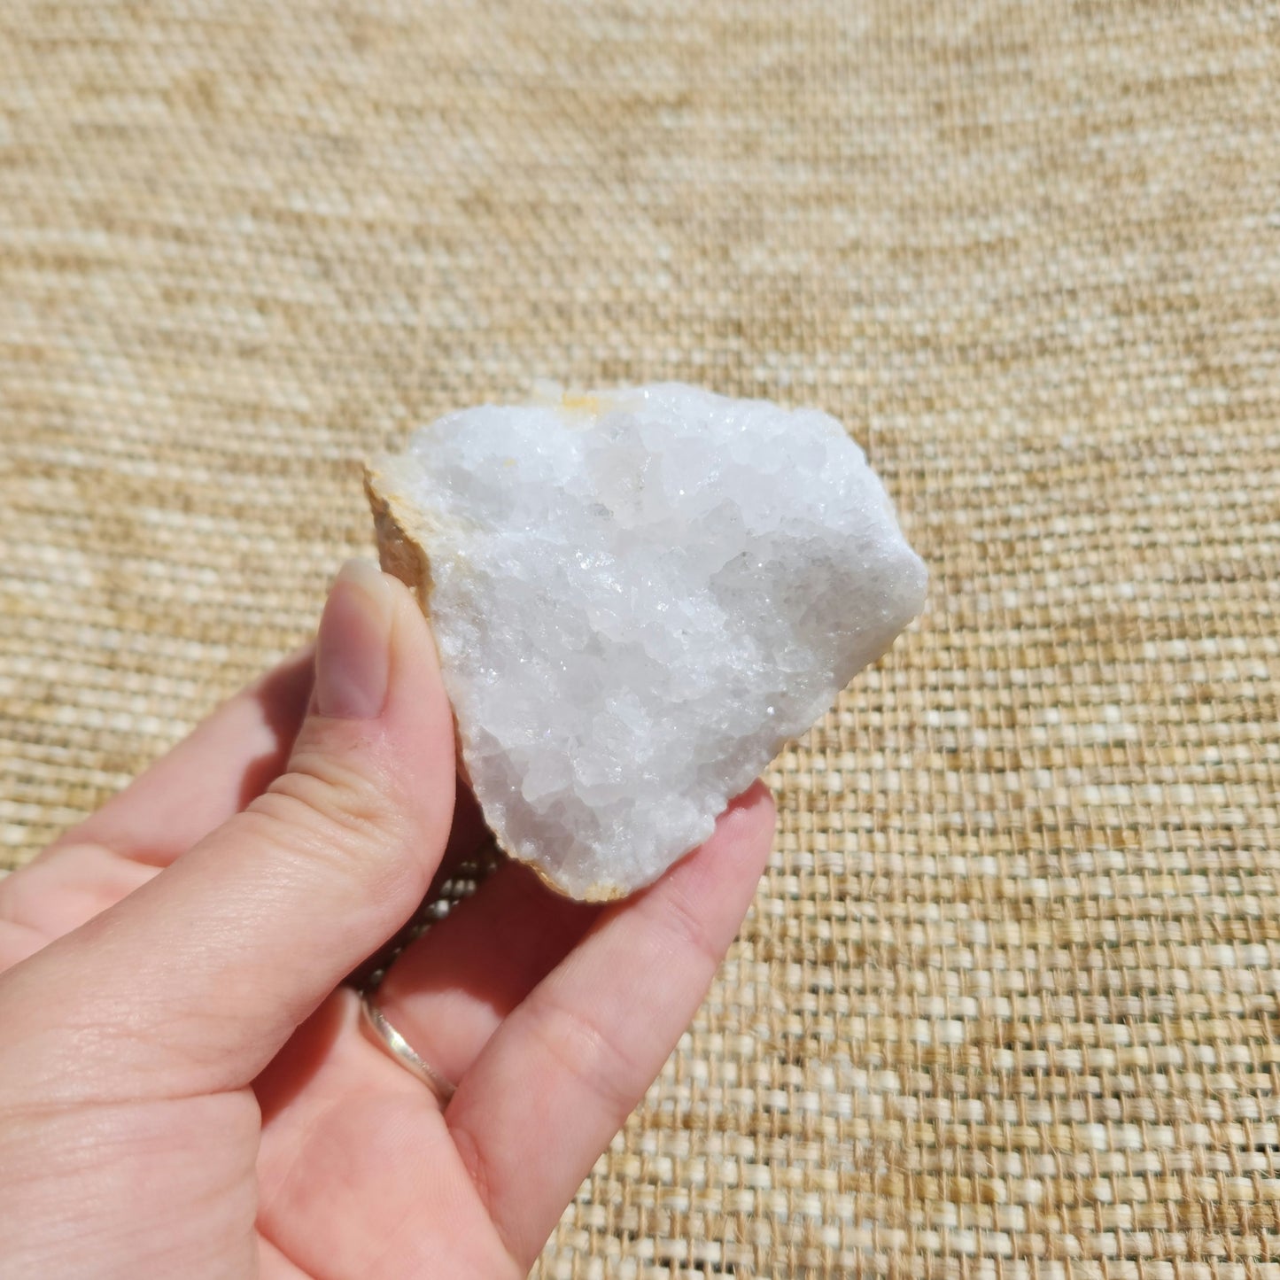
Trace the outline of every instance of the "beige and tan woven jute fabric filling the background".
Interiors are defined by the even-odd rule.
[[[1277,72],[1248,0],[5,0],[4,859],[413,425],[817,404],[928,609],[539,1274],[1280,1275]]]

